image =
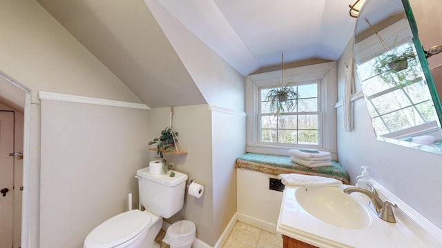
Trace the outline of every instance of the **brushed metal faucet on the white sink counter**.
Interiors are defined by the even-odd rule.
[[[396,204],[388,200],[385,200],[385,202],[383,202],[381,198],[379,198],[378,194],[373,194],[367,189],[362,189],[360,187],[347,187],[344,189],[345,194],[352,194],[353,192],[365,194],[365,196],[370,199],[370,208],[376,213],[379,218],[381,218],[381,220],[385,220],[389,223],[396,223],[396,218],[394,218],[394,213],[392,209],[392,207],[398,207]]]

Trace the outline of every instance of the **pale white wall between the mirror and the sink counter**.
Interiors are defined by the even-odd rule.
[[[338,61],[338,101],[343,99],[345,63],[352,56],[352,40]],[[361,87],[356,83],[356,92]],[[338,108],[338,159],[352,183],[361,166],[391,192],[442,227],[442,156],[376,141],[365,100],[353,104],[354,130],[343,130],[343,108]],[[401,206],[398,206],[401,207]]]

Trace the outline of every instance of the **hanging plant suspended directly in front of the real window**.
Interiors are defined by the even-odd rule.
[[[298,104],[299,94],[291,87],[290,83],[280,83],[279,87],[269,90],[267,92],[266,101],[270,102],[270,111],[275,113],[275,116],[280,115],[280,112],[284,112],[284,106],[287,106],[287,112],[293,110]]]

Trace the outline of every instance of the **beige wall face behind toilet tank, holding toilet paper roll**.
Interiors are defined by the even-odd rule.
[[[161,107],[151,110],[151,139],[160,136],[160,132],[169,126],[170,108]],[[172,216],[168,223],[187,219],[193,221],[197,229],[197,238],[209,243],[213,238],[213,178],[211,149],[211,111],[208,105],[174,107],[173,130],[185,147],[186,155],[168,155],[168,159],[178,172],[187,174],[191,179],[204,184],[204,195],[194,198],[186,194],[183,209]],[[155,145],[151,146],[155,148]],[[156,152],[151,152],[151,160]]]

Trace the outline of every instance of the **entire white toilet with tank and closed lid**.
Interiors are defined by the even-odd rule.
[[[169,172],[170,173],[170,172]],[[137,170],[138,193],[144,211],[126,211],[95,227],[84,240],[84,248],[155,248],[155,237],[163,218],[182,209],[187,175],[174,172],[150,174],[149,168]]]

